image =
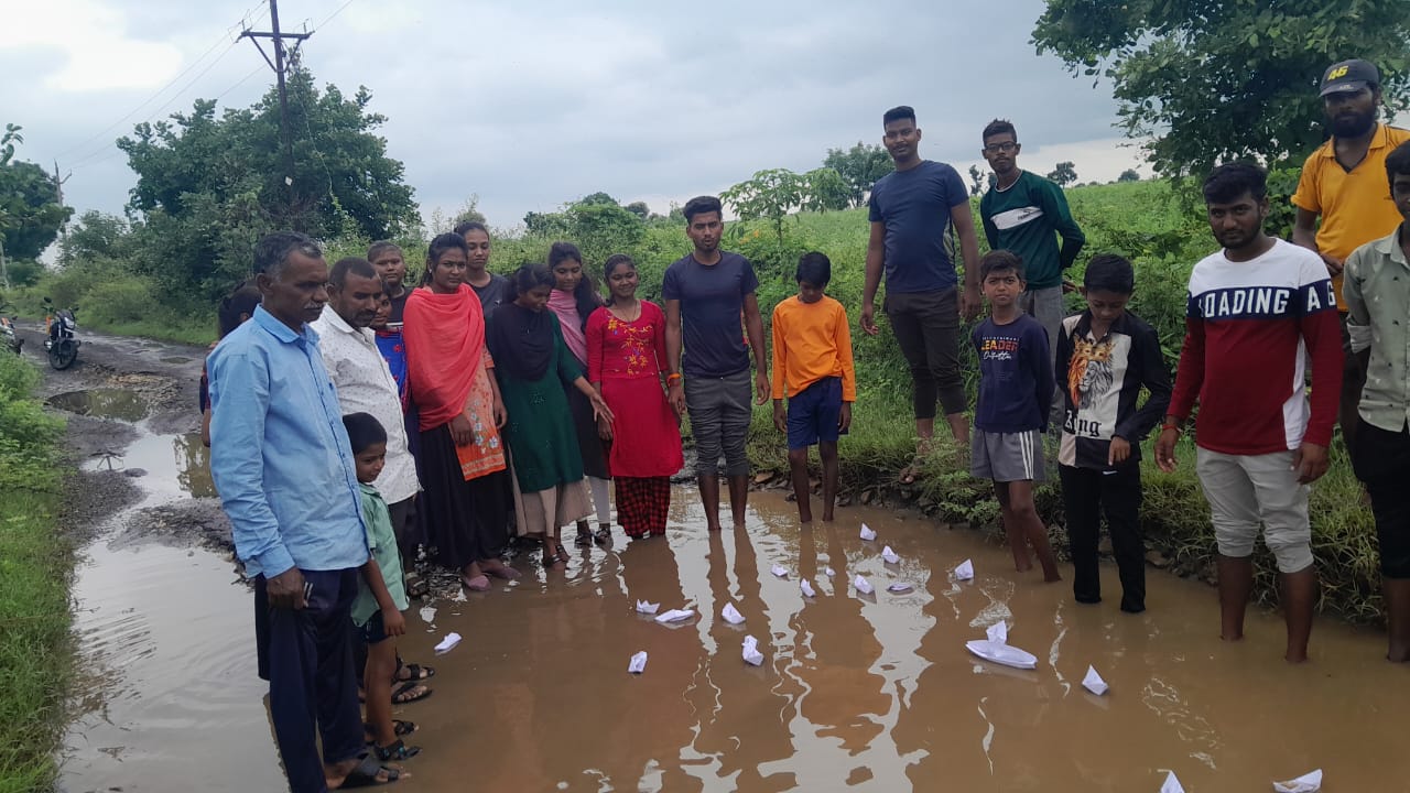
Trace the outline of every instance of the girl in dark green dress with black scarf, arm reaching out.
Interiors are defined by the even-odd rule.
[[[520,531],[541,533],[543,564],[568,563],[560,529],[592,512],[582,478],[582,456],[564,388],[577,388],[595,418],[612,411],[563,341],[558,317],[546,310],[553,272],[526,264],[510,278],[510,299],[489,320],[489,354],[509,420],[503,435],[515,470],[515,509]]]

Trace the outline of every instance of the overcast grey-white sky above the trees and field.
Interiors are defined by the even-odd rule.
[[[0,123],[18,157],[72,172],[65,202],[121,212],[134,182],[113,141],[197,97],[252,104],[274,75],[241,24],[257,0],[0,0]],[[878,143],[912,104],[921,154],[963,174],[979,134],[1012,119],[1039,174],[1148,169],[1112,128],[1110,87],[1073,79],[1028,42],[1041,0],[852,1],[282,0],[313,30],[321,83],[372,92],[422,214],[471,195],[494,226],[605,190],[670,202],[764,168],[816,168],[830,147]]]

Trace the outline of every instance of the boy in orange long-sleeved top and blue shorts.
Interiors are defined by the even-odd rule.
[[[822,519],[832,521],[838,436],[852,426],[857,381],[847,310],[823,293],[832,281],[832,261],[816,251],[804,254],[795,278],[798,298],[774,306],[774,426],[788,435],[788,471],[798,498],[798,519],[811,523],[808,447],[816,444],[822,459]]]

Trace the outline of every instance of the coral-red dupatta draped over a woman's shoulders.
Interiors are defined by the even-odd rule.
[[[406,377],[426,432],[450,423],[465,409],[485,356],[485,312],[465,284],[450,295],[413,289],[402,315]]]

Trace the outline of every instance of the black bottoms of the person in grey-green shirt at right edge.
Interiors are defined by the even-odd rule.
[[[1366,483],[1376,516],[1380,574],[1410,579],[1410,429],[1389,432],[1361,419],[1351,456],[1356,478]]]

